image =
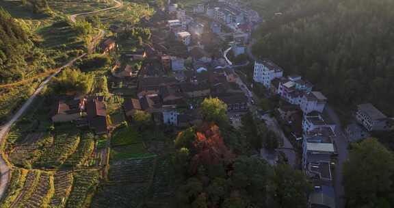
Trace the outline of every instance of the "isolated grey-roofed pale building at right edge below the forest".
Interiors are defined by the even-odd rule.
[[[393,119],[388,118],[371,103],[357,105],[356,120],[368,131],[393,129]]]

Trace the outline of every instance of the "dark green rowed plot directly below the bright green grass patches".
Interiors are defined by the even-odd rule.
[[[127,181],[132,183],[146,183],[153,177],[156,157],[139,159],[124,159],[109,168],[109,181]]]

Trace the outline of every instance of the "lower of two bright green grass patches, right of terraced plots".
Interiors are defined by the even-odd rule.
[[[118,146],[115,148],[111,148],[110,153],[111,160],[119,160],[119,159],[127,159],[127,158],[135,158],[135,157],[148,157],[152,156],[152,153],[148,153],[146,151],[144,144],[130,144],[127,146]]]

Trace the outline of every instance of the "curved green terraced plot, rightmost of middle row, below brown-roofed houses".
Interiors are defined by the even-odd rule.
[[[87,165],[94,151],[94,135],[82,133],[77,150],[64,162],[64,166],[81,167]]]

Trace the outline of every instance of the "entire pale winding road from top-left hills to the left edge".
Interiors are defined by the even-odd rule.
[[[102,9],[102,10],[96,10],[93,12],[83,12],[83,13],[79,13],[79,14],[73,14],[70,16],[70,20],[73,21],[73,23],[75,23],[77,16],[94,14],[96,12],[104,12],[107,10],[113,10],[116,8],[120,8],[120,6],[123,5],[122,2],[120,2],[120,1],[116,1],[116,0],[114,0],[114,1],[116,2],[116,6],[114,6],[114,7],[106,8],[106,9]],[[104,34],[105,34],[105,31],[103,29],[101,29],[99,35],[96,36],[96,38],[94,38],[94,41],[92,41],[92,44],[94,44],[94,42],[96,42],[101,37],[103,37]],[[8,134],[8,132],[10,131],[12,125],[14,125],[16,120],[18,120],[18,118],[20,118],[23,115],[23,113],[25,113],[25,111],[29,108],[31,103],[33,103],[34,99],[36,99],[38,94],[40,94],[40,92],[42,91],[44,86],[46,86],[47,83],[49,83],[49,81],[51,81],[51,79],[53,77],[55,77],[57,74],[59,74],[64,68],[73,65],[75,61],[81,59],[82,57],[84,57],[86,55],[87,55],[87,53],[83,53],[79,57],[76,57],[75,59],[71,60],[70,62],[68,62],[64,66],[58,68],[57,71],[55,73],[53,73],[53,75],[50,75],[44,81],[42,81],[42,83],[40,83],[40,86],[38,86],[36,91],[34,91],[34,93],[29,97],[29,99],[27,99],[27,101],[22,105],[21,109],[19,109],[18,112],[16,112],[16,114],[14,114],[14,116],[12,116],[12,118],[5,125],[1,126],[0,144],[3,144],[5,137]],[[8,182],[10,181],[10,167],[8,166],[7,162],[5,161],[6,158],[3,158],[3,157],[5,157],[5,154],[3,152],[1,152],[1,155],[0,155],[0,173],[1,173],[1,175],[0,175],[0,177],[1,177],[1,179],[0,179],[0,199],[3,198],[4,193],[7,190]]]

